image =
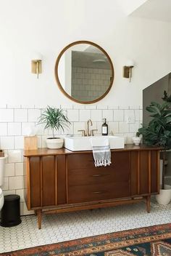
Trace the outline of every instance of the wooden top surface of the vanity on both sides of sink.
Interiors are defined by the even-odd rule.
[[[149,145],[133,145],[128,144],[125,145],[125,148],[119,148],[119,149],[112,149],[111,151],[148,151],[148,150],[154,150],[159,151],[161,150],[161,147],[156,146],[149,146]],[[38,148],[37,150],[27,150],[23,151],[23,156],[30,157],[30,156],[52,156],[52,155],[66,155],[66,154],[72,154],[72,153],[90,153],[91,151],[69,151],[66,148],[60,148],[60,149],[49,149],[49,148]]]

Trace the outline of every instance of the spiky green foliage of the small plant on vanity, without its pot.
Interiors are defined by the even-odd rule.
[[[63,109],[51,108],[48,105],[46,110],[41,113],[41,116],[38,119],[38,124],[45,124],[44,129],[50,128],[54,137],[54,130],[59,131],[61,128],[62,131],[64,131],[64,128],[69,127],[71,123]]]

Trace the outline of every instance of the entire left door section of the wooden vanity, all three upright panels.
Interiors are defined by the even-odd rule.
[[[28,209],[66,204],[65,156],[28,159]]]

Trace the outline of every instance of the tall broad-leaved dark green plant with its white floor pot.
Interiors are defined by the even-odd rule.
[[[151,102],[151,105],[146,107],[146,110],[151,113],[151,121],[147,126],[138,129],[139,134],[143,135],[143,143],[147,145],[157,145],[162,147],[162,189],[157,195],[159,204],[168,204],[171,200],[171,190],[166,189],[164,184],[164,175],[166,170],[166,152],[171,148],[171,104],[164,102],[159,104]],[[166,196],[168,194],[168,199]],[[164,195],[164,199],[161,197]]]

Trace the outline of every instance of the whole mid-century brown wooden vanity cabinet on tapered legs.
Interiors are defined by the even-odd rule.
[[[159,148],[112,150],[112,164],[95,167],[91,151],[25,151],[25,201],[38,215],[110,207],[146,200],[159,193]]]

